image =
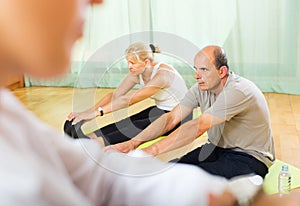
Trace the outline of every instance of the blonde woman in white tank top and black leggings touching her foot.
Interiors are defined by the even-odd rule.
[[[171,111],[188,88],[176,69],[154,60],[154,53],[159,52],[159,48],[153,44],[137,42],[130,45],[125,52],[129,73],[123,82],[92,108],[83,112],[71,112],[64,126],[65,132],[74,138],[85,137],[81,131],[76,132],[72,125],[79,123],[79,128],[84,121],[126,108],[149,97],[154,99],[155,106],[87,134],[102,145],[116,144],[130,140],[158,117]],[[137,84],[142,87],[129,92]],[[191,115],[187,119],[191,119]]]

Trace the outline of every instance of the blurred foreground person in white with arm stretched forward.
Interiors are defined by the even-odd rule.
[[[43,78],[65,73],[82,33],[81,14],[99,2],[1,1],[0,84],[14,72]],[[0,88],[0,205],[234,206],[255,200],[259,184],[253,181],[261,183],[255,176],[227,181],[195,166],[132,156],[63,138]],[[299,193],[262,194],[251,205],[298,202]]]

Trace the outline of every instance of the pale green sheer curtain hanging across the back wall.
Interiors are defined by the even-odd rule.
[[[107,0],[88,10],[85,37],[70,73],[26,85],[116,87],[128,72],[124,51],[134,41],[161,46],[159,60],[193,83],[193,56],[222,46],[230,69],[264,92],[300,94],[298,0]]]

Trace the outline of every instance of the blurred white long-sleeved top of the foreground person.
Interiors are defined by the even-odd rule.
[[[0,152],[1,205],[206,205],[227,185],[193,166],[64,138],[3,89]]]

